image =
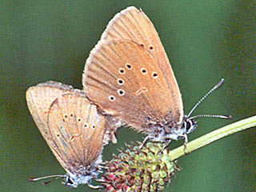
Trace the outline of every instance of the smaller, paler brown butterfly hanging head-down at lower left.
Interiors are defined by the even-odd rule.
[[[82,90],[59,82],[44,82],[26,91],[26,101],[34,122],[66,175],[66,186],[77,187],[96,178],[102,162],[102,146],[108,142],[106,119],[98,114]],[[105,139],[105,140],[104,140]],[[30,178],[38,181],[42,178]]]

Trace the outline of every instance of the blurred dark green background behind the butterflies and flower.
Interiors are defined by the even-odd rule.
[[[142,8],[154,23],[182,92],[185,113],[220,78],[221,89],[194,114],[232,114],[232,120],[201,118],[189,139],[256,114],[255,1],[1,1],[0,188],[1,191],[94,191],[61,181],[43,186],[29,177],[64,174],[39,134],[25,92],[54,80],[82,88],[90,50],[114,14]],[[256,191],[255,129],[231,135],[182,157],[165,191]],[[128,137],[129,134],[129,137]],[[132,138],[132,139],[131,139]],[[118,145],[142,134],[122,128]],[[172,142],[171,148],[183,141]],[[61,179],[60,179],[61,180]]]

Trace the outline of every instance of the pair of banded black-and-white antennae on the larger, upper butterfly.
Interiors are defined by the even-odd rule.
[[[190,117],[190,115],[194,112],[194,110],[218,87],[222,86],[222,83],[224,82],[224,78],[222,78],[213,88],[211,88],[198,102],[197,104],[194,105],[192,110],[190,110],[190,113],[187,115],[187,117]],[[194,117],[191,117],[190,119],[193,118],[231,118],[230,115],[218,115],[218,114],[199,114]]]

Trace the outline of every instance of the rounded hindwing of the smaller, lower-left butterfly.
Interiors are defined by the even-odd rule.
[[[84,94],[63,94],[50,106],[51,146],[66,170],[75,172],[98,160],[105,134],[105,118],[98,115]],[[66,166],[66,167],[65,167]]]

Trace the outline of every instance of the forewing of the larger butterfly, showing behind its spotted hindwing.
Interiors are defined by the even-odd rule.
[[[175,97],[176,109],[180,110],[181,116],[183,116],[182,96],[178,89],[178,83],[158,33],[146,14],[134,6],[127,7],[126,10],[116,14],[106,26],[100,41],[112,42],[117,39],[137,42],[150,51],[154,62],[159,66],[166,79],[170,93]]]

